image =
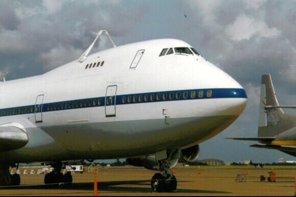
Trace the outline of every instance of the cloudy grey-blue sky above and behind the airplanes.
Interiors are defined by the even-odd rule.
[[[249,147],[256,142],[225,139],[257,137],[262,74],[271,74],[280,104],[296,105],[296,0],[0,0],[0,77],[34,76],[74,61],[100,30],[117,46],[184,40],[245,88],[246,109],[200,144],[200,160],[296,161]],[[95,50],[110,47],[102,36]]]

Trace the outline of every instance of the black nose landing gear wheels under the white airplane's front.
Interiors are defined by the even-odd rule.
[[[151,188],[153,192],[171,192],[177,189],[177,179],[171,173],[167,164],[162,167],[161,173],[155,173],[151,179]]]

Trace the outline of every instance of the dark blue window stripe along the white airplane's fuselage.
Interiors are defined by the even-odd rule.
[[[66,100],[42,104],[42,112],[79,109],[86,107],[105,106],[105,96],[88,99]],[[192,89],[179,91],[165,91],[152,93],[139,93],[128,95],[116,95],[114,101],[115,105],[122,104],[136,104],[148,102],[163,102],[163,101],[177,101],[177,100],[192,100],[192,99],[222,99],[222,98],[245,98],[247,94],[244,89],[227,88],[227,89]],[[110,105],[114,105],[111,103]],[[12,116],[21,114],[35,113],[35,104],[10,107],[0,109],[1,116]],[[37,111],[40,112],[40,111]]]

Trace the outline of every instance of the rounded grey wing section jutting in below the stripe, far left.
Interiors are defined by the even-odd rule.
[[[0,152],[21,148],[28,140],[27,133],[19,127],[0,126]]]

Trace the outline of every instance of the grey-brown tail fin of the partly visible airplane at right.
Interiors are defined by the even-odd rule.
[[[271,75],[262,75],[258,137],[273,137],[295,127],[296,116],[286,114],[276,99]]]

